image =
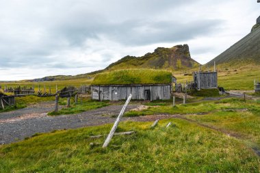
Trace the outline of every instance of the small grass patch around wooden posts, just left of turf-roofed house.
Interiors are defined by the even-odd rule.
[[[51,111],[48,113],[49,116],[59,116],[59,115],[65,115],[65,114],[78,114],[83,111],[88,111],[90,109],[97,109],[100,107],[105,107],[109,105],[108,101],[93,101],[89,98],[83,98],[82,103],[79,101],[77,104],[75,103],[74,98],[70,100],[70,107],[64,107],[60,109],[59,111]],[[66,99],[60,99],[59,101],[60,105],[66,105]]]

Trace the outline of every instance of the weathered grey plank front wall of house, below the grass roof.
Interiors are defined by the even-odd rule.
[[[110,85],[92,86],[92,99],[119,101],[132,94],[133,100],[167,100],[170,99],[172,85]],[[145,94],[146,93],[146,94]]]

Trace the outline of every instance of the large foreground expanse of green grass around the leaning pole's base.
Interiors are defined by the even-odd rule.
[[[171,121],[176,127],[165,128]],[[0,147],[0,172],[259,172],[252,150],[237,139],[184,120],[120,122],[107,149],[90,146],[104,142],[112,124],[38,134]]]

